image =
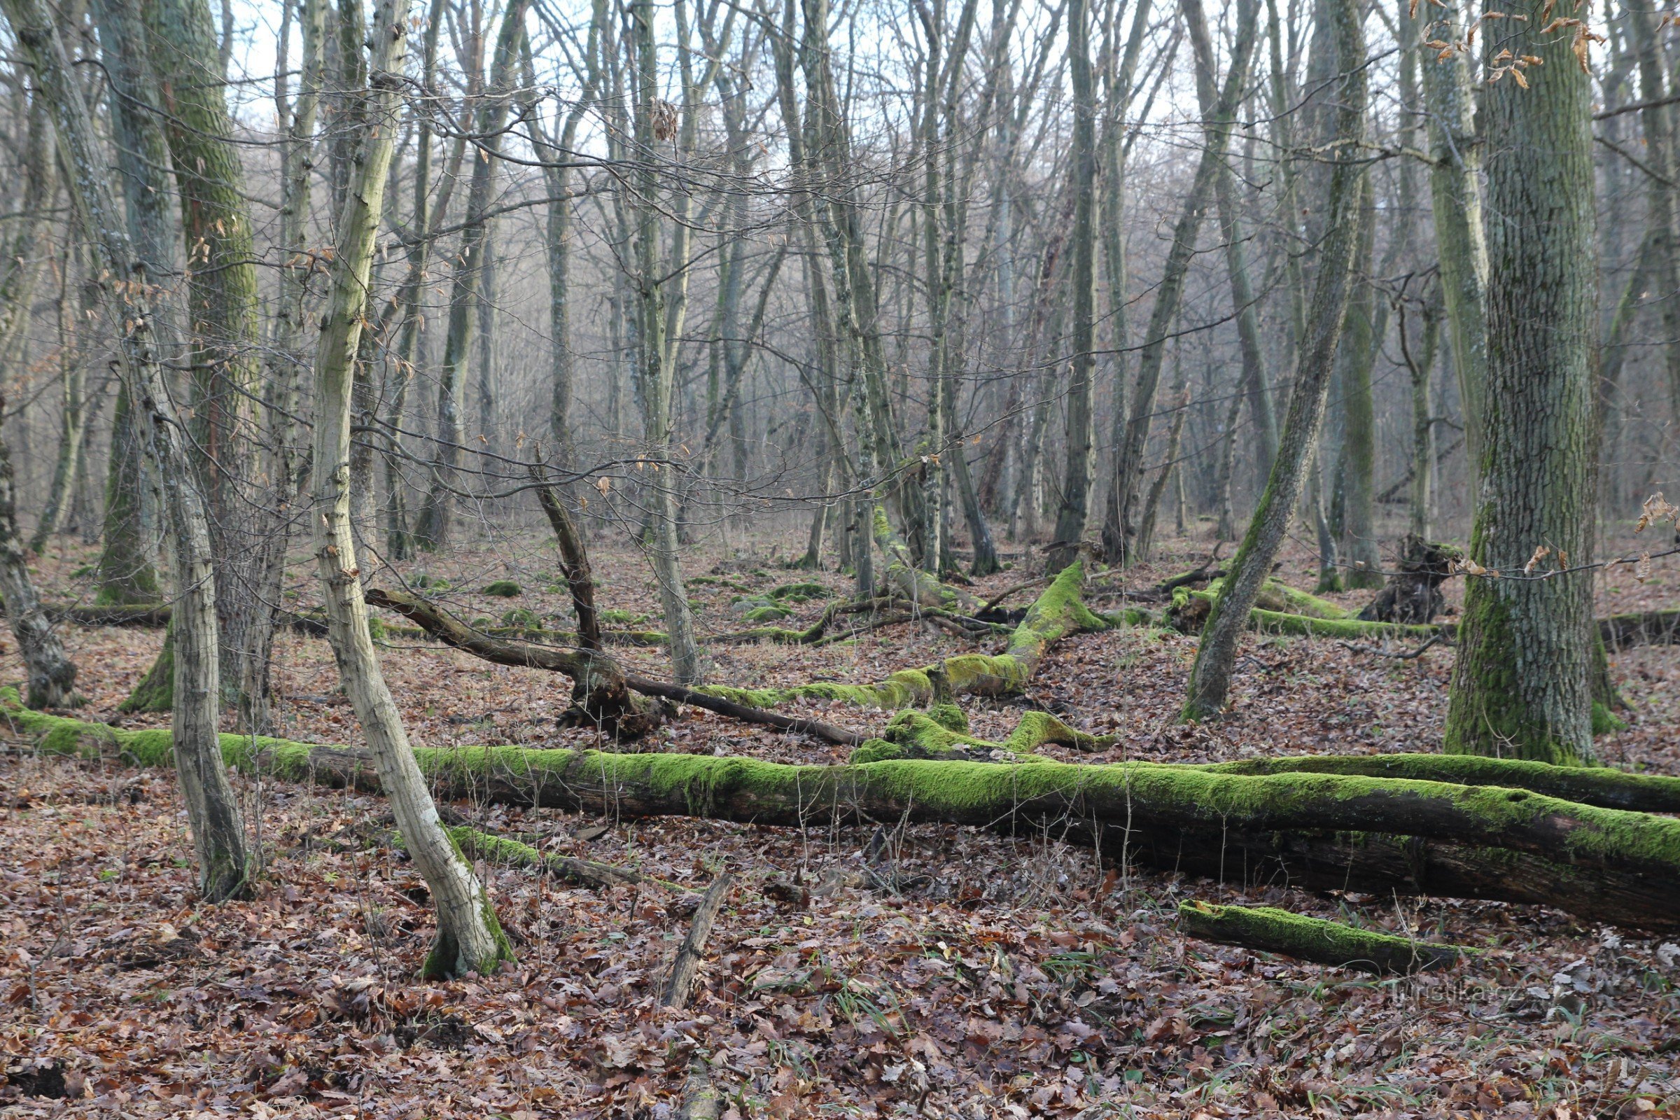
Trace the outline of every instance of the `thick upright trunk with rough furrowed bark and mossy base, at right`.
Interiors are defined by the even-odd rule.
[[[1544,0],[1541,0],[1544,3]],[[1532,17],[1541,3],[1520,5]],[[1530,10],[1532,7],[1532,10]],[[1584,27],[1579,29],[1584,32]],[[1446,749],[1591,761],[1593,576],[1522,578],[1537,547],[1591,557],[1598,336],[1591,81],[1569,35],[1502,27],[1546,60],[1530,89],[1487,92],[1487,401],[1470,578],[1446,709]],[[1583,47],[1586,44],[1583,42]]]

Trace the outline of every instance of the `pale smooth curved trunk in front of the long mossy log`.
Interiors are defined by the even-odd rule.
[[[514,5],[517,7],[517,5]],[[328,611],[328,640],[339,678],[361,722],[380,784],[415,866],[437,902],[437,940],[423,972],[430,977],[487,974],[512,959],[512,947],[472,866],[444,830],[425,776],[385,683],[368,606],[361,594],[349,521],[349,416],[375,235],[390,178],[402,109],[408,0],[381,0],[371,24],[365,119],[351,181],[334,232],[331,297],[316,351],[316,428],[311,479],[314,546]]]

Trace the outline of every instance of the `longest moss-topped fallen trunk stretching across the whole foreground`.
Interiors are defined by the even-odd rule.
[[[17,707],[40,751],[170,764],[168,730],[123,730]],[[223,735],[223,754],[281,777],[376,789],[365,752]],[[440,796],[749,824],[939,821],[1053,828],[1105,858],[1240,882],[1537,902],[1680,929],[1680,821],[1497,786],[1341,774],[1221,774],[1156,762],[1072,766],[894,759],[790,766],[743,757],[524,747],[417,749]]]

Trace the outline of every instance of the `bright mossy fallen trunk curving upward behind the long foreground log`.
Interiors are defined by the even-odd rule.
[[[791,700],[843,700],[860,707],[885,710],[927,707],[951,695],[1010,695],[1020,692],[1038,668],[1052,645],[1085,630],[1107,630],[1112,623],[1085,606],[1080,598],[1084,564],[1072,563],[1045,588],[1026,610],[1026,618],[1010,635],[1003,653],[959,653],[936,665],[902,668],[872,685],[811,682],[786,688],[729,688],[709,685],[702,692],[771,709]]]

